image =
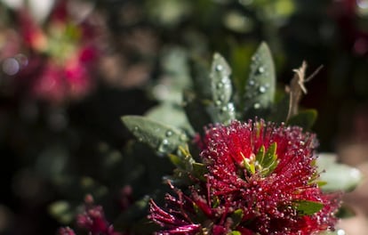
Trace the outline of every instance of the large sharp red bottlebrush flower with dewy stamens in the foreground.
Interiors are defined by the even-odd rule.
[[[340,194],[324,194],[315,166],[316,138],[300,127],[263,121],[206,130],[206,182],[152,201],[158,234],[315,234],[333,230]]]

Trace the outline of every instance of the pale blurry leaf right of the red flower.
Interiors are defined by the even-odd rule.
[[[336,162],[337,156],[332,153],[321,153],[316,160],[319,171],[324,171],[320,175],[322,182],[327,182],[322,190],[351,191],[362,181],[363,175],[355,167],[347,166]]]

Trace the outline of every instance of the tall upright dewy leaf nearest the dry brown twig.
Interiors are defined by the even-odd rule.
[[[272,55],[266,43],[261,43],[252,56],[251,70],[245,84],[244,111],[257,113],[269,109],[276,93],[276,74]],[[251,114],[251,115],[249,115]]]

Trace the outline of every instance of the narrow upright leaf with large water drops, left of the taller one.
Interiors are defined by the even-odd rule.
[[[231,69],[227,61],[219,53],[215,53],[210,73],[212,101],[214,104],[212,118],[214,122],[228,124],[232,119],[235,119],[234,104],[230,102],[233,93],[230,74]]]

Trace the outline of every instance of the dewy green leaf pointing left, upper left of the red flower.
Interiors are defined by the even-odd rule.
[[[140,116],[124,116],[124,125],[140,142],[147,143],[158,154],[166,155],[186,145],[188,136],[173,126]]]

